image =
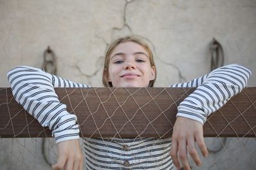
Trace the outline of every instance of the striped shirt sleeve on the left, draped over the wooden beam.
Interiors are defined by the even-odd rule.
[[[15,100],[43,127],[49,127],[56,143],[79,138],[76,115],[60,103],[54,87],[88,87],[64,80],[41,69],[15,67],[7,73]]]

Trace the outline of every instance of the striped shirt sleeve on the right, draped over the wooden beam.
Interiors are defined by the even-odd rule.
[[[197,87],[178,106],[177,117],[197,120],[202,124],[206,118],[241,92],[247,85],[252,72],[239,64],[230,64],[214,69],[211,73],[187,83],[170,87]]]

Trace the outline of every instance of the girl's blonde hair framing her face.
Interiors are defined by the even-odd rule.
[[[132,41],[134,43],[138,43],[139,45],[141,45],[148,52],[150,66],[151,67],[154,66],[156,69],[156,65],[155,65],[154,58],[153,58],[153,53],[150,50],[150,47],[148,46],[148,44],[142,38],[132,35],[132,36],[125,36],[123,38],[115,39],[115,41],[113,41],[111,43],[111,45],[109,45],[109,48],[105,54],[104,69],[103,69],[103,73],[102,73],[102,83],[105,87],[113,87],[112,83],[108,81],[110,55],[113,52],[113,50],[115,50],[116,46],[118,46],[120,43],[125,43],[128,41]],[[156,81],[156,76],[155,76],[154,80],[149,81],[148,87],[153,87],[155,81]]]

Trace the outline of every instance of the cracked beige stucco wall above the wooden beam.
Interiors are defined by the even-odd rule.
[[[152,46],[156,87],[209,73],[213,37],[223,46],[225,64],[252,70],[249,86],[255,87],[255,28],[255,0],[1,0],[0,87],[9,87],[6,71],[12,67],[41,67],[47,46],[56,53],[59,76],[102,87],[106,47],[126,34]]]

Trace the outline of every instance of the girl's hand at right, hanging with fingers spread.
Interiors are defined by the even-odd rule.
[[[184,117],[177,117],[173,126],[171,156],[173,164],[180,169],[180,162],[185,170],[190,170],[188,156],[189,153],[197,166],[202,162],[196,151],[195,145],[199,146],[204,157],[208,151],[204,142],[203,125],[196,120]]]

